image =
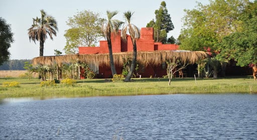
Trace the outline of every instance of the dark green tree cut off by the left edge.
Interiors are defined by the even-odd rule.
[[[9,48],[11,43],[14,42],[11,25],[6,20],[0,17],[0,65],[9,60]]]

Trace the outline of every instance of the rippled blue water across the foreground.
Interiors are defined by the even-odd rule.
[[[0,101],[0,139],[256,139],[256,94]]]

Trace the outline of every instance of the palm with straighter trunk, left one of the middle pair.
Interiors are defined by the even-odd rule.
[[[118,11],[106,11],[108,20],[103,24],[103,33],[107,39],[108,49],[109,49],[109,58],[110,58],[110,69],[112,76],[116,74],[116,69],[113,61],[112,55],[112,45],[111,45],[111,33],[115,35],[118,32],[120,25],[123,23],[122,21],[111,19],[114,15],[118,13]]]

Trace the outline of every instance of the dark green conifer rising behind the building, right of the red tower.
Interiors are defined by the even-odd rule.
[[[147,27],[154,27],[154,39],[156,42],[165,43],[167,42],[167,33],[174,29],[165,1],[162,1],[160,8],[155,10],[155,19],[147,23]]]

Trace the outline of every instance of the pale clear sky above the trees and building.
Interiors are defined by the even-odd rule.
[[[68,17],[76,15],[77,12],[90,10],[106,17],[106,10],[117,10],[119,13],[113,19],[124,21],[123,12],[130,10],[134,12],[131,22],[141,27],[155,18],[155,10],[159,9],[161,2],[166,2],[168,13],[175,26],[168,37],[173,35],[178,38],[183,26],[182,17],[184,9],[193,9],[198,2],[208,4],[209,0],[0,0],[0,17],[11,24],[15,42],[11,44],[9,51],[10,59],[32,59],[39,56],[39,41],[30,41],[28,28],[33,23],[32,18],[41,17],[40,10],[44,9],[47,14],[52,15],[58,22],[57,36],[53,40],[48,38],[44,44],[44,55],[54,55],[54,49],[64,53],[66,39],[65,30],[70,26],[66,24]]]

